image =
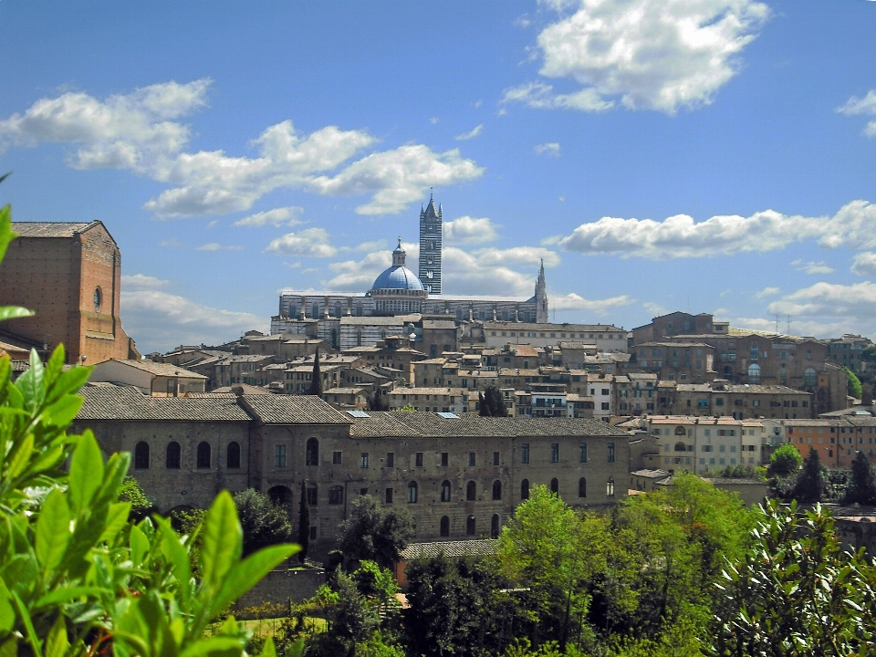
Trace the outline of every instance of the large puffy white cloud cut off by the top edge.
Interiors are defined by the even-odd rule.
[[[601,111],[614,99],[631,110],[672,114],[711,102],[733,78],[737,57],[769,16],[755,0],[579,0],[547,3],[575,11],[538,35],[545,78],[571,78],[582,89],[555,93],[531,82],[505,101],[535,108]]]

